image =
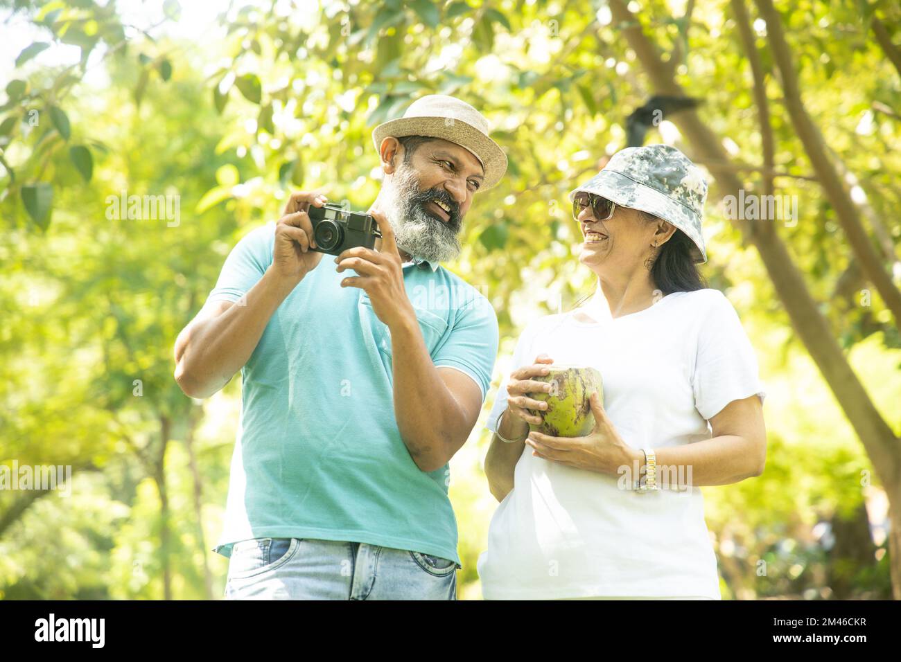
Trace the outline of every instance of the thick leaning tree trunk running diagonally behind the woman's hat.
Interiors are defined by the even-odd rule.
[[[623,0],[609,0],[614,21],[623,25],[623,36],[635,51],[642,67],[651,78],[654,92],[660,95],[685,95],[667,68],[660,60],[654,44],[645,36],[636,16],[626,7]],[[673,116],[673,122],[687,136],[700,159],[709,162],[723,195],[738,195],[743,188],[735,170],[728,166],[729,158],[718,136],[701,122],[696,111],[686,110]],[[715,164],[727,164],[725,166]],[[798,338],[805,344],[816,366],[824,376],[826,384],[842,412],[851,422],[851,427],[860,438],[879,480],[889,495],[889,510],[893,513],[893,523],[901,519],[901,444],[882,419],[876,406],[851,370],[838,342],[833,338],[822,313],[792,260],[785,243],[778,238],[774,222],[749,222],[733,220],[745,240],[750,240],[760,253],[777,295],[785,307],[788,319]],[[901,527],[895,527],[897,537]],[[896,548],[901,549],[901,539],[895,539]],[[896,597],[901,596],[901,555],[891,559],[893,586]]]

